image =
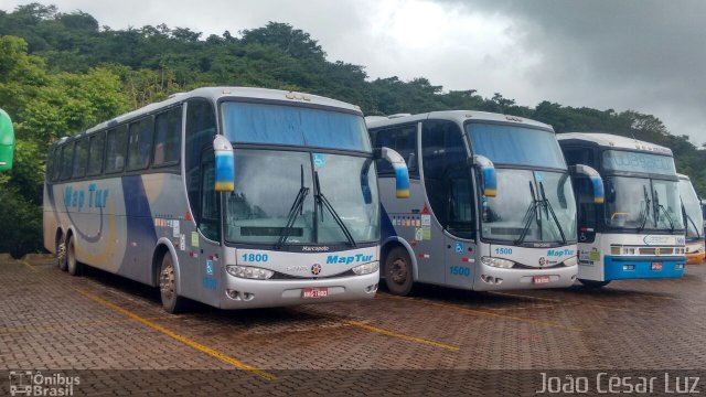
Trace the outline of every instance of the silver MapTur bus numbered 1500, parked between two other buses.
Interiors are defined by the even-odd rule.
[[[570,173],[602,183],[588,167],[566,167],[550,126],[481,111],[368,117],[376,147],[407,162],[410,200],[386,190],[378,163],[382,264],[391,292],[417,282],[469,290],[560,288],[576,280],[576,204]]]

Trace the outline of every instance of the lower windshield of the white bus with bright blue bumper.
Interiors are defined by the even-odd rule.
[[[677,182],[608,176],[606,224],[609,227],[683,230]]]

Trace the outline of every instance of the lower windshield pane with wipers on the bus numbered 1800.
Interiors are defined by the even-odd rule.
[[[372,159],[260,149],[234,152],[236,189],[225,201],[227,242],[345,244],[346,230],[355,243],[379,239]],[[356,175],[351,170],[357,170]],[[332,210],[318,200],[320,195]]]

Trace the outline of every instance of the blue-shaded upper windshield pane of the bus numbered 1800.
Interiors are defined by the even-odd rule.
[[[221,109],[224,135],[232,142],[371,151],[361,115],[236,101]]]

